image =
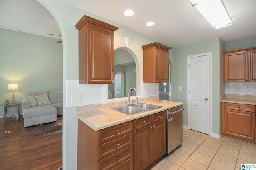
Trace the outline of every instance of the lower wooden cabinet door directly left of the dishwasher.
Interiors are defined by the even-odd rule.
[[[152,126],[152,162],[155,162],[166,154],[166,120]]]

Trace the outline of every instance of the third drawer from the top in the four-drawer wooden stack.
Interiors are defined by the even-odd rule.
[[[115,166],[128,160],[129,158],[132,158],[132,156],[133,156],[133,145],[98,161],[98,169],[110,170],[111,168],[114,168]]]

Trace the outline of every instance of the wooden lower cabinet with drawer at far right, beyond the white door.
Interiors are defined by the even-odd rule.
[[[255,106],[221,103],[221,132],[255,140]]]

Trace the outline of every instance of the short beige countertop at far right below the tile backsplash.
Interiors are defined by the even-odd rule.
[[[256,96],[222,94],[220,102],[256,105]]]

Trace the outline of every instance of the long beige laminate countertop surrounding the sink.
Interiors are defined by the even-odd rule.
[[[147,101],[143,103],[154,104],[154,105],[163,106],[163,107],[159,109],[151,110],[151,111],[145,111],[135,115],[126,115],[124,113],[120,113],[112,109],[100,109],[96,111],[78,113],[76,114],[76,117],[80,119],[82,122],[84,122],[86,125],[91,127],[92,129],[94,129],[95,131],[98,131],[100,129],[118,125],[120,123],[124,123],[127,121],[138,119],[140,117],[145,117],[147,115],[152,115],[160,111],[165,111],[173,107],[183,105],[183,103],[181,102],[172,102],[172,101],[166,101],[166,100],[153,100],[153,101]]]

